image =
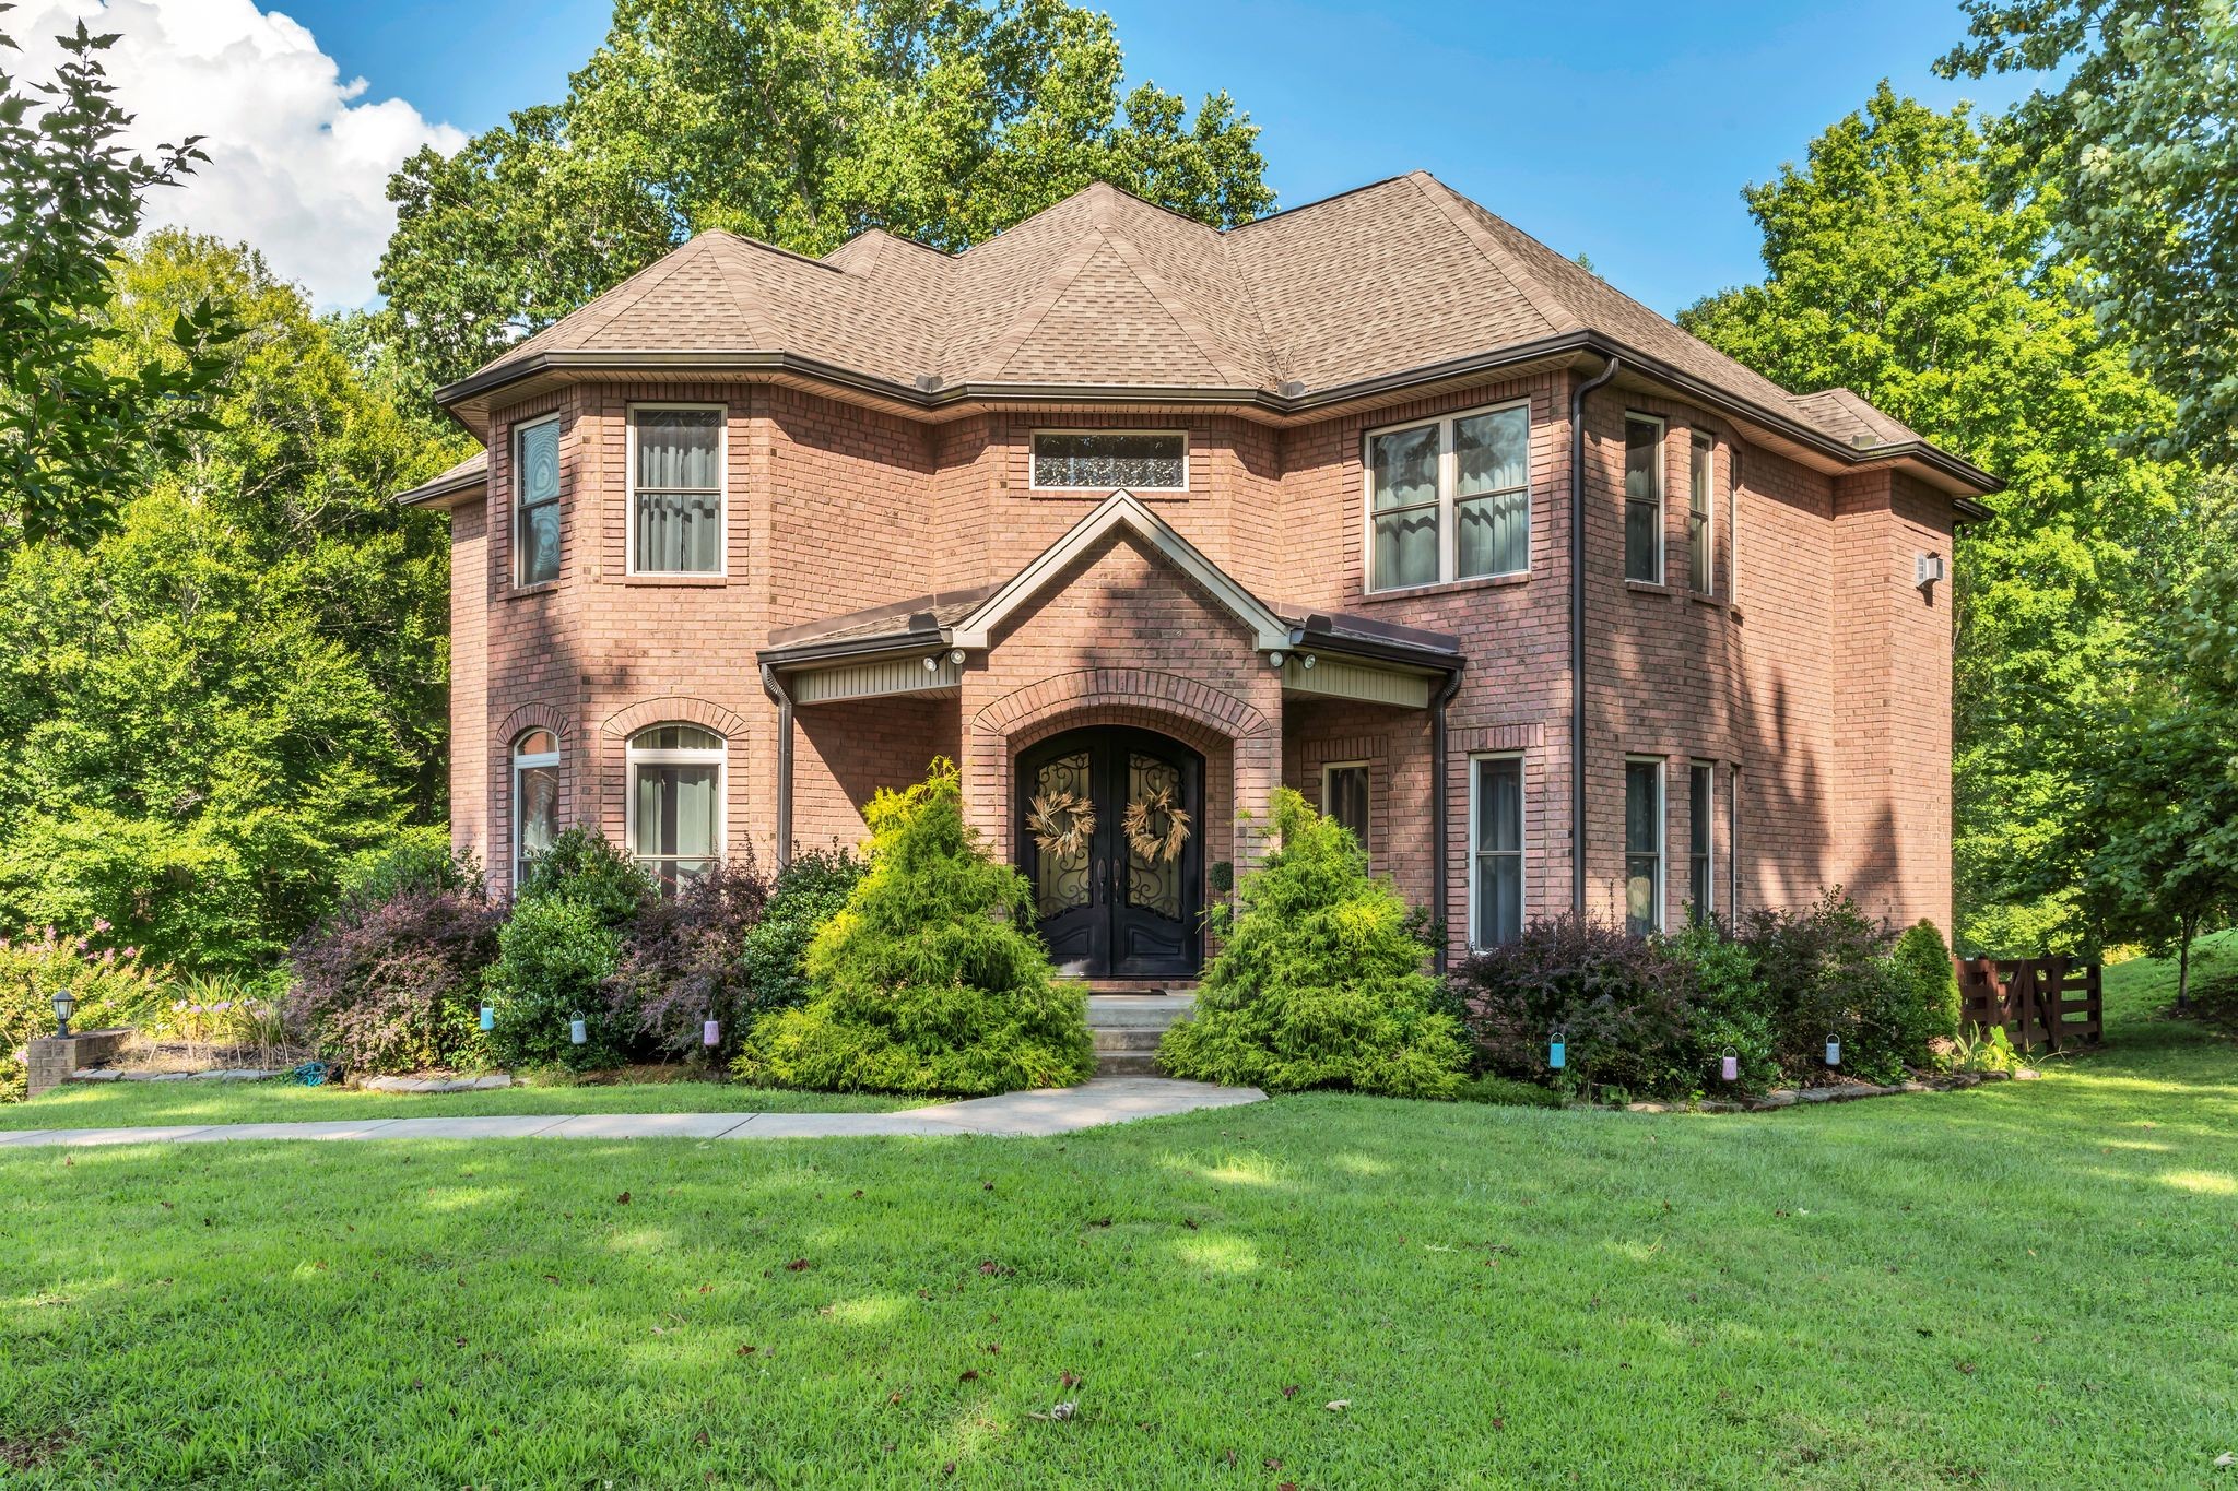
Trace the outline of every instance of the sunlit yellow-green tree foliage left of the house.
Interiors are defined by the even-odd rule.
[[[0,552],[0,925],[253,968],[354,854],[443,811],[448,552],[389,496],[457,458],[369,393],[248,250],[159,232],[114,268],[116,367],[210,302],[224,393],[85,548]],[[125,373],[121,373],[125,376]]]

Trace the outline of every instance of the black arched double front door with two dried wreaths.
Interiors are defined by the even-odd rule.
[[[1193,977],[1204,952],[1204,758],[1155,731],[1097,726],[1032,747],[1014,780],[1018,867],[1059,970]],[[1065,834],[1081,818],[1065,805],[1088,805],[1094,825]]]

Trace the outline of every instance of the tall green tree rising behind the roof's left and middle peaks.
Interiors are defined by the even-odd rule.
[[[389,181],[387,335],[461,378],[705,228],[962,248],[1097,177],[1217,226],[1273,206],[1226,94],[1191,116],[1121,72],[1065,0],[620,0],[562,103]]]

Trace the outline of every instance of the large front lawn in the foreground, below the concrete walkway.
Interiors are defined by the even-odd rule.
[[[1289,1098],[1068,1140],[0,1149],[0,1466],[2225,1484],[2238,1048],[2151,1019],[2164,975],[2110,970],[2108,1051],[2043,1082],[1741,1118]]]

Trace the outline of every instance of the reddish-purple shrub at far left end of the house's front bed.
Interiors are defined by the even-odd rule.
[[[470,890],[345,905],[289,952],[286,1026],[349,1071],[474,1066],[499,912]]]

